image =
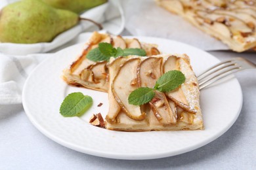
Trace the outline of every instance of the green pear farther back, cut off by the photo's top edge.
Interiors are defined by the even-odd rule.
[[[91,9],[108,0],[43,0],[45,3],[57,9],[72,10],[77,14],[83,10]]]

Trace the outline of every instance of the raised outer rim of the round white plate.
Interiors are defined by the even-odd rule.
[[[124,38],[137,38],[137,39],[163,39],[163,38],[158,38],[158,37],[144,37],[144,36],[122,36]],[[184,44],[186,46],[190,46],[196,50],[200,50],[201,52],[204,52],[208,55],[210,55],[211,57],[217,59],[215,56],[209,54],[208,52],[205,52],[204,50],[201,50],[200,48],[196,48],[194,46],[191,46],[189,44],[185,44],[184,42],[179,42],[179,41],[173,41],[173,40],[169,40],[169,39],[164,39],[165,41],[172,41],[172,42],[178,42],[181,44]],[[85,44],[84,42],[78,43],[78,44]],[[78,44],[74,44],[72,46],[78,46]],[[72,48],[72,46],[68,46],[66,48]],[[62,50],[65,50],[66,48],[63,48]],[[26,82],[24,84],[24,88],[22,90],[22,105],[24,107],[24,111],[26,112],[26,115],[28,116],[30,122],[32,122],[33,126],[35,126],[39,131],[41,131],[41,133],[43,133],[43,135],[47,136],[49,139],[53,140],[54,142],[61,144],[62,146],[66,146],[67,148],[71,148],[72,150],[76,150],[78,152],[82,152],[85,154],[90,154],[93,156],[99,156],[99,157],[103,157],[103,158],[112,158],[112,159],[119,159],[119,160],[151,160],[151,159],[157,159],[157,158],[165,158],[165,157],[169,157],[169,156],[175,156],[178,154],[184,154],[186,152],[190,152],[192,150],[195,150],[197,148],[200,148],[202,146],[205,146],[208,143],[211,143],[212,141],[215,141],[215,139],[219,138],[221,135],[223,135],[226,131],[228,131],[228,129],[230,129],[230,127],[234,124],[234,122],[236,122],[238,116],[240,115],[240,112],[242,110],[242,103],[243,103],[243,95],[242,95],[242,88],[240,83],[238,82],[238,79],[235,78],[236,83],[239,86],[239,93],[240,93],[240,107],[238,109],[238,112],[236,113],[236,117],[233,119],[232,122],[230,122],[230,124],[228,124],[228,126],[226,126],[226,129],[222,129],[221,132],[217,133],[217,135],[215,135],[214,137],[208,138],[207,140],[203,141],[203,143],[199,143],[199,144],[194,144],[194,146],[187,146],[182,148],[181,150],[179,150],[179,152],[160,152],[158,154],[154,154],[154,156],[147,155],[145,154],[116,154],[114,152],[99,152],[98,150],[92,150],[91,148],[81,148],[80,146],[77,146],[77,144],[70,144],[66,141],[63,141],[62,139],[60,139],[60,137],[56,137],[54,134],[49,133],[46,129],[43,128],[43,126],[41,126],[36,120],[35,118],[33,118],[33,115],[30,113],[29,109],[28,109],[28,103],[24,102],[26,101],[25,99],[25,92],[26,92],[26,86],[30,80],[30,76],[33,75],[33,72],[38,68],[41,67],[41,65],[43,65],[43,63],[47,62],[49,59],[56,57],[56,55],[58,55],[58,53],[61,53],[62,50],[56,52],[53,54],[53,56],[49,56],[49,58],[45,59],[44,61],[42,61],[41,63],[39,63],[39,65],[37,65],[35,67],[35,69],[33,69],[32,73],[30,73],[30,75],[28,76],[28,78],[26,79]],[[219,61],[219,59],[217,59]]]

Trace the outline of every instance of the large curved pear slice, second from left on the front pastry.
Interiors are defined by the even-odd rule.
[[[129,105],[128,96],[131,92],[137,89],[136,86],[131,85],[133,79],[137,78],[137,68],[140,59],[133,58],[126,61],[120,67],[116,77],[111,85],[111,90],[117,103],[123,109],[125,114],[133,120],[144,120],[146,113],[140,111],[140,106]]]

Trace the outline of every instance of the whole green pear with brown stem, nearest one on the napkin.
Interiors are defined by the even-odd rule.
[[[50,42],[79,22],[69,10],[54,9],[41,0],[22,0],[0,12],[0,42]]]

